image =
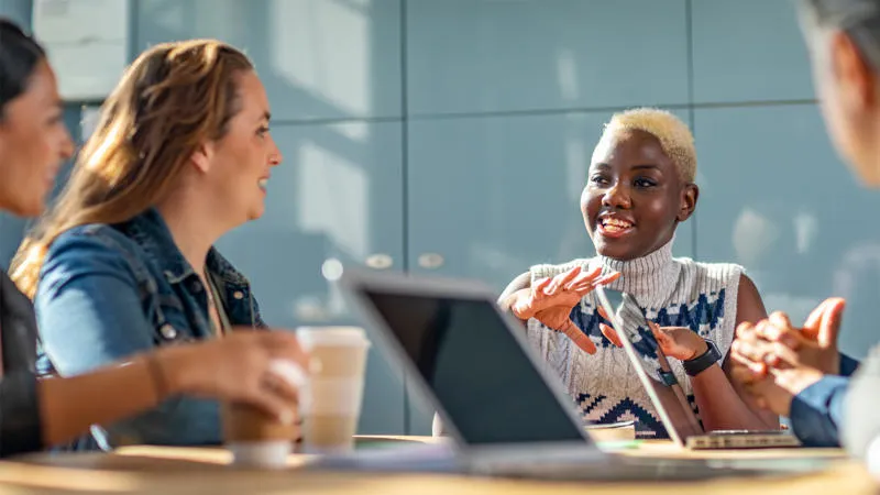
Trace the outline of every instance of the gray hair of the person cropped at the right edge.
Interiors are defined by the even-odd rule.
[[[805,28],[844,31],[880,70],[880,0],[798,0]]]

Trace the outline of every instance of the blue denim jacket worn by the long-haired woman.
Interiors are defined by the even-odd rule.
[[[206,266],[230,323],[265,327],[244,276],[213,249]],[[216,338],[207,297],[155,209],[121,224],[72,229],[52,244],[40,274],[38,369],[76,375],[158,345]],[[92,435],[105,449],[216,444],[219,407],[216,400],[175,397],[131,419],[92,427]]]

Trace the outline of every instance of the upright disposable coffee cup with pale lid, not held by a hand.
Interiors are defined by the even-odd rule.
[[[296,334],[311,358],[309,387],[299,402],[302,451],[351,452],[361,416],[370,340],[360,327],[304,327]]]

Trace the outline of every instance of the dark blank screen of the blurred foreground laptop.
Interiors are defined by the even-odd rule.
[[[463,441],[584,441],[493,301],[375,288],[365,295]]]

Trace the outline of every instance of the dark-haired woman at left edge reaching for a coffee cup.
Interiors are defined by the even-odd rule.
[[[0,19],[3,211],[33,217],[43,210],[59,165],[74,152],[62,111],[43,48]],[[89,331],[88,321],[70,317],[65,331]],[[36,332],[31,301],[0,272],[0,455],[68,441],[89,425],[113,424],[180,395],[250,403],[294,420],[296,389],[272,372],[278,360],[305,362],[290,334],[239,332],[227,340],[144,348],[89,373],[38,380]]]

